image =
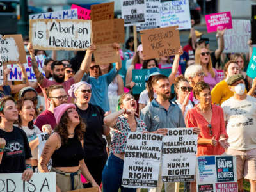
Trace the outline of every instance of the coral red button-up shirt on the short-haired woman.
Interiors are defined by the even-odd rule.
[[[220,106],[216,106],[212,104],[212,132],[213,135],[210,136],[210,130],[207,127],[208,122],[205,120],[204,116],[202,116],[199,112],[197,106],[190,109],[185,116],[186,127],[199,127],[200,134],[198,138],[211,139],[215,136],[215,139],[218,141],[221,134],[225,134],[226,138],[228,138],[225,122],[224,122],[224,113],[223,109]],[[204,144],[197,146],[197,156],[214,156],[221,155],[225,152],[225,149],[221,147],[220,143],[215,147],[211,144]]]

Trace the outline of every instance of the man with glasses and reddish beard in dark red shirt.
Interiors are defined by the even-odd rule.
[[[50,107],[41,113],[35,120],[35,125],[42,131],[43,126],[51,125],[54,129],[56,126],[56,119],[53,114],[54,108],[60,106],[60,104],[67,103],[68,95],[61,84],[49,86],[47,89],[47,97],[50,103]]]

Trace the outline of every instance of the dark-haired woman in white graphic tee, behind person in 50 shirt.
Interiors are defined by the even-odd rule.
[[[41,131],[38,127],[36,127],[36,125],[33,124],[33,119],[36,111],[34,102],[31,99],[22,97],[21,99],[17,100],[16,106],[19,111],[17,127],[22,129],[28,137],[29,147],[32,153],[31,165],[33,166],[33,170],[35,172],[35,168],[37,168],[38,166],[39,144],[39,140],[36,135],[40,134]],[[48,132],[49,134],[51,134],[52,132],[51,127],[43,126],[42,129],[44,132]]]

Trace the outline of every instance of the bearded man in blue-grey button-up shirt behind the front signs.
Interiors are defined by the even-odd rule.
[[[147,125],[147,131],[166,135],[167,129],[165,128],[186,127],[179,106],[172,104],[170,100],[171,84],[168,77],[160,74],[154,76],[151,82],[157,97],[148,103],[140,113],[140,118]],[[160,168],[157,188],[150,189],[150,192],[161,191],[163,186],[161,175]],[[168,182],[164,186],[166,192],[175,191],[175,183]]]

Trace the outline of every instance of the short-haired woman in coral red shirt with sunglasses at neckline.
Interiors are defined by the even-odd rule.
[[[193,87],[199,104],[185,116],[186,127],[199,127],[197,156],[221,155],[228,148],[227,132],[223,109],[212,104],[210,86],[203,81]],[[196,191],[196,183],[191,182],[191,191]]]

